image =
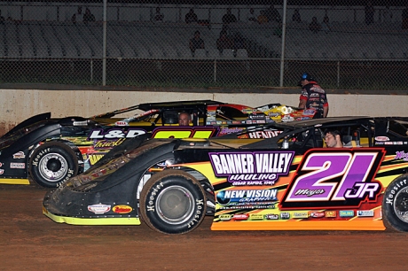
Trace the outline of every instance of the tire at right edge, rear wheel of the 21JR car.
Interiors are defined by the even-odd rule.
[[[382,199],[382,221],[393,231],[408,231],[408,174],[389,183]]]

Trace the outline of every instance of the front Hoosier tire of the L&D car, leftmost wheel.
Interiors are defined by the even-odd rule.
[[[78,159],[65,143],[43,143],[31,155],[29,168],[36,183],[55,188],[78,174]]]

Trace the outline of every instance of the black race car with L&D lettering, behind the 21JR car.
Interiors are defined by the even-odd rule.
[[[180,112],[190,114],[190,126],[178,125]],[[135,136],[208,138],[280,120],[284,114],[287,120],[296,120],[310,118],[311,113],[279,104],[257,109],[211,100],[141,104],[87,119],[51,119],[51,113],[43,113],[0,138],[0,183],[29,184],[31,176],[38,184],[52,188]]]

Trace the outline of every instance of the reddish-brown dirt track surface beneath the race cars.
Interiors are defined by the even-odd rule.
[[[407,270],[408,233],[72,226],[42,214],[45,191],[0,185],[0,270]]]

